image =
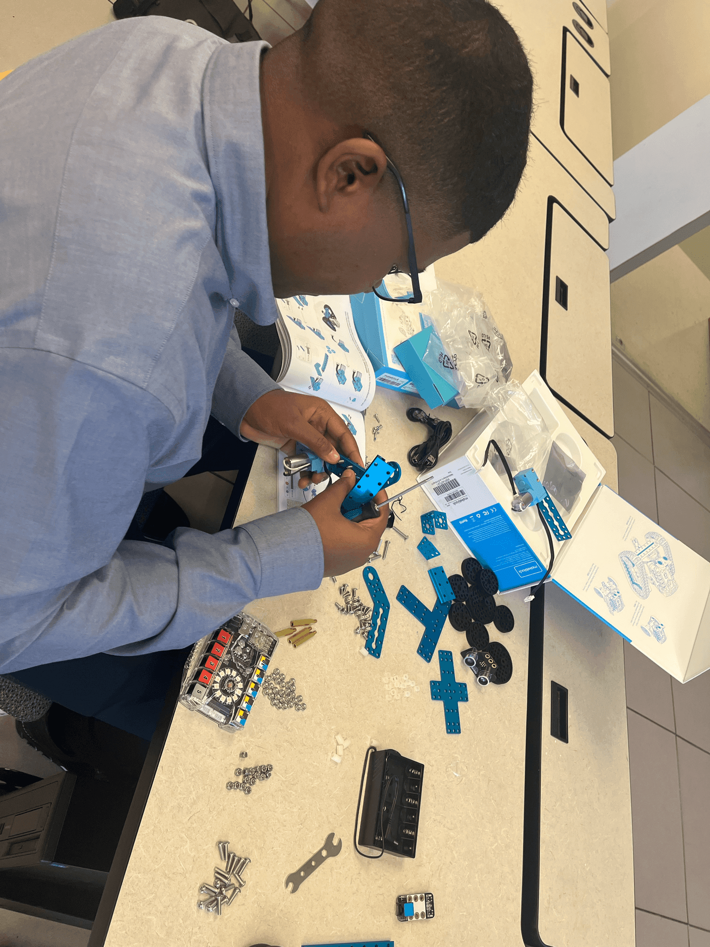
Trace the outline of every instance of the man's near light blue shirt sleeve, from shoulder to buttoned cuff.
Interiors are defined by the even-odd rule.
[[[171,423],[147,392],[6,349],[0,403],[0,672],[181,648],[252,599],[320,584],[323,547],[304,509],[213,536],[176,529],[170,545],[122,540]]]

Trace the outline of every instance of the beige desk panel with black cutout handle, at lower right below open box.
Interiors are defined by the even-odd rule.
[[[633,947],[623,640],[554,583],[544,598],[540,938]]]

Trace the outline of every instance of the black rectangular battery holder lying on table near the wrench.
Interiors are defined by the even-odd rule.
[[[400,858],[416,856],[423,777],[424,764],[400,756],[397,750],[371,754],[359,845]]]

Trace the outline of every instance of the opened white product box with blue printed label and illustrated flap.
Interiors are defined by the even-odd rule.
[[[557,505],[573,535],[553,539],[551,581],[679,681],[701,674],[710,668],[710,563],[600,486],[604,468],[537,371],[523,387],[553,439],[586,474],[571,509]],[[474,418],[423,489],[505,592],[540,581],[550,552],[538,511],[514,512],[507,478],[490,463],[483,467],[496,426],[495,418]]]

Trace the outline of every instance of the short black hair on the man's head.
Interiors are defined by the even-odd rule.
[[[413,214],[480,240],[515,197],[533,79],[488,0],[319,0],[302,30],[304,79],[328,117],[369,132]],[[387,175],[391,177],[391,175]]]

